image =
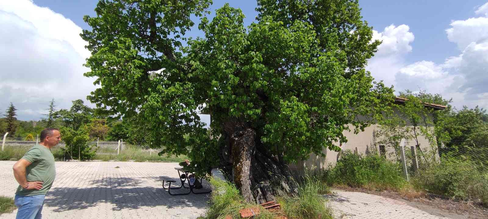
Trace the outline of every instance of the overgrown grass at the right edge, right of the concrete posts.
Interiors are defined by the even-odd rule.
[[[488,206],[488,172],[468,159],[443,157],[440,163],[421,168],[411,181],[418,190]]]

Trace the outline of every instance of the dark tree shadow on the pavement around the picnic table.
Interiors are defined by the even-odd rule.
[[[100,203],[115,205],[112,210],[138,209],[142,206],[196,207],[206,209],[207,195],[170,196],[163,189],[162,179],[172,179],[180,182],[178,178],[149,177],[160,181],[160,185],[149,185],[148,178],[102,178],[90,181],[88,188],[65,187],[52,188],[49,191],[44,205],[53,207],[54,212],[94,207]],[[144,185],[146,184],[146,185]],[[180,184],[177,183],[179,186]],[[184,192],[186,189],[175,189],[174,192]],[[173,192],[173,191],[172,191]]]

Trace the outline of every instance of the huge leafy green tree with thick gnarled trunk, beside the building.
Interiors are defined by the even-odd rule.
[[[81,34],[85,76],[101,85],[88,98],[144,121],[153,147],[188,155],[195,171],[224,168],[249,201],[294,193],[286,164],[338,150],[344,130],[366,127],[391,100],[365,70],[380,42],[357,0],[258,0],[247,27],[228,4],[207,19],[210,4],[100,0]],[[193,16],[203,37],[185,35]]]

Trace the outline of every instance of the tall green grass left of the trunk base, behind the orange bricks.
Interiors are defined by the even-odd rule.
[[[211,205],[205,213],[205,216],[200,219],[225,219],[227,216],[231,216],[232,219],[241,219],[239,210],[252,207],[260,208],[260,214],[256,219],[274,219],[274,215],[266,211],[263,207],[246,203],[244,198],[239,194],[239,190],[232,183],[211,178],[210,184],[213,187],[210,198]]]

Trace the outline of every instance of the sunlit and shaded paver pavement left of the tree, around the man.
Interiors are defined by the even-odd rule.
[[[0,161],[0,195],[14,196],[18,186],[14,163]],[[186,219],[202,215],[206,195],[170,196],[163,189],[162,177],[178,178],[174,167],[178,163],[56,162],[57,176],[46,196],[43,218]],[[16,213],[1,218],[14,219]]]

